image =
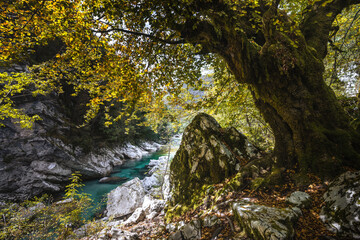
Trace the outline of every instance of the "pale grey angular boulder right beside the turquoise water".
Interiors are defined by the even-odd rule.
[[[141,207],[145,190],[139,178],[134,178],[115,188],[108,194],[107,216],[119,218],[133,213]]]

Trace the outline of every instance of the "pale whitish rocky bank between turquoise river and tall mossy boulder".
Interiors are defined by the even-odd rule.
[[[158,230],[163,222],[165,203],[169,198],[168,157],[163,156],[149,163],[148,176],[134,178],[108,194],[106,217],[97,220],[102,231],[90,239],[138,239]],[[86,235],[85,225],[76,232],[78,237]],[[85,237],[85,236],[84,236]]]

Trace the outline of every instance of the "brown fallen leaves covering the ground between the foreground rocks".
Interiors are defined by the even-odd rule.
[[[252,202],[269,206],[269,207],[287,207],[288,203],[286,199],[291,193],[295,191],[303,191],[311,196],[311,206],[302,209],[302,216],[296,222],[295,228],[295,239],[296,240],[324,240],[324,239],[337,239],[335,234],[328,231],[320,220],[320,211],[323,206],[322,196],[327,189],[327,183],[321,182],[321,180],[315,176],[309,176],[311,184],[303,187],[295,186],[291,180],[291,172],[286,176],[285,184],[282,186],[274,186],[272,189],[263,189],[252,191],[249,189],[242,190],[241,192],[228,192],[227,195],[223,195],[216,199],[215,204],[218,206],[215,212],[210,215],[216,215],[222,222],[219,226],[213,228],[202,228],[201,239],[216,239],[216,240],[250,240],[251,238],[246,237],[241,233],[240,227],[234,220],[233,213],[231,211],[230,203],[236,202],[242,198],[249,198]],[[215,191],[220,190],[224,187],[224,184],[216,184]],[[214,206],[214,204],[212,205]],[[198,219],[201,213],[207,210],[207,207],[203,204],[188,212],[187,214],[173,219],[172,222],[190,222],[194,219]],[[166,225],[164,220],[161,220],[161,224]],[[159,223],[160,224],[160,223]],[[160,229],[160,228],[158,228]],[[140,235],[140,239],[167,239],[170,233],[165,229],[152,232],[151,235],[143,234]]]

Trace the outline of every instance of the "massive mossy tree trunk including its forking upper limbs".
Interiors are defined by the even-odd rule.
[[[324,178],[345,166],[360,169],[360,136],[323,80],[332,22],[360,0],[315,1],[300,23],[278,9],[280,1],[259,2],[259,7],[249,8],[251,4],[238,1],[238,8],[245,9],[239,14],[224,1],[213,1],[211,6],[216,3],[220,13],[209,14],[212,21],[188,21],[182,36],[200,43],[203,51],[219,54],[236,80],[250,86],[273,129],[277,167]],[[201,9],[200,4],[194,7]],[[258,22],[245,14],[249,11],[261,14]]]

